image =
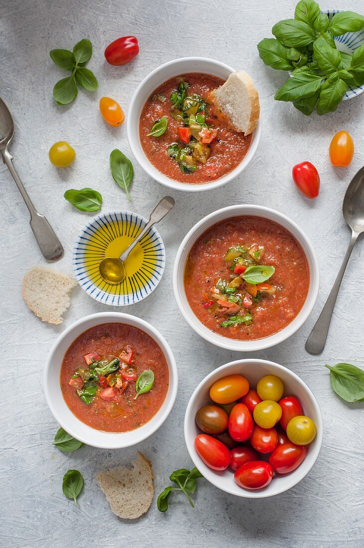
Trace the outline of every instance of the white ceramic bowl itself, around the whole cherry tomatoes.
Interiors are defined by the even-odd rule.
[[[218,379],[227,375],[243,375],[252,387],[256,387],[259,379],[264,375],[276,375],[285,385],[284,396],[295,396],[301,402],[305,415],[309,416],[316,424],[317,434],[313,442],[308,446],[308,452],[303,462],[290,474],[275,475],[269,485],[263,489],[248,491],[239,487],[234,481],[234,472],[228,468],[223,472],[211,470],[200,459],[194,447],[195,437],[202,433],[195,423],[195,414],[198,409],[209,403],[210,387]],[[289,369],[280,366],[278,363],[268,362],[265,359],[241,359],[236,362],[226,363],[224,366],[215,369],[207,375],[197,389],[193,392],[184,416],[184,439],[188,453],[195,466],[203,476],[219,489],[232,495],[244,496],[249,499],[265,498],[278,495],[295,486],[311,470],[319,456],[323,436],[322,415],[315,396],[309,387]]]

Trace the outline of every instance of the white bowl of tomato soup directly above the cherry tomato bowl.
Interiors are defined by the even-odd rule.
[[[188,232],[173,283],[199,335],[248,352],[281,343],[302,326],[317,298],[319,265],[307,236],[285,215],[230,206]]]

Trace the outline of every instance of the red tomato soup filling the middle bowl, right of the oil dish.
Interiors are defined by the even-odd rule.
[[[284,227],[238,216],[194,243],[184,271],[187,300],[200,322],[238,340],[286,327],[302,309],[310,272],[301,245]]]

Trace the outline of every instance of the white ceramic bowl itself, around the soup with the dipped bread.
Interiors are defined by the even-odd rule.
[[[168,186],[175,190],[184,190],[188,192],[199,192],[203,190],[216,189],[218,186],[225,185],[227,182],[240,175],[242,171],[249,165],[253,156],[258,148],[259,141],[262,135],[262,115],[258,120],[257,127],[253,132],[253,138],[247,155],[242,162],[230,173],[224,175],[216,181],[207,182],[201,185],[188,184],[174,179],[170,179],[163,173],[160,173],[154,165],[149,162],[148,158],[143,151],[140,137],[139,137],[139,121],[142,113],[143,106],[146,104],[148,98],[152,95],[154,90],[159,87],[160,84],[166,82],[170,78],[180,76],[188,72],[203,72],[218,76],[227,80],[232,72],[235,72],[234,68],[225,65],[219,61],[213,59],[204,59],[200,57],[184,57],[182,59],[175,59],[169,61],[158,68],[155,68],[143,81],[138,85],[134,95],[130,101],[128,111],[128,122],[126,129],[128,132],[128,140],[131,152],[135,156],[136,161],[145,172],[153,179],[160,182],[162,185]]]

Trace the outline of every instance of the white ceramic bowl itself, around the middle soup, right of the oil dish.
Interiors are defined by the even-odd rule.
[[[217,222],[239,215],[255,215],[258,217],[263,217],[264,219],[271,219],[272,221],[275,221],[279,225],[285,227],[285,229],[287,229],[288,232],[290,232],[301,244],[307,257],[310,269],[310,285],[307,298],[298,315],[293,319],[290,324],[288,324],[287,327],[285,327],[278,333],[275,333],[274,335],[270,335],[268,337],[264,337],[262,339],[256,339],[251,341],[229,339],[227,337],[224,337],[223,335],[213,333],[210,329],[205,327],[204,324],[201,323],[199,319],[194,315],[192,309],[190,308],[186,293],[184,291],[183,283],[184,265],[186,264],[188,254],[195,241],[197,241],[197,239],[207,229],[215,225]],[[195,224],[195,226],[193,226],[192,229],[184,237],[180,247],[178,248],[173,271],[173,289],[177,305],[192,329],[194,329],[196,333],[201,335],[201,337],[203,337],[210,343],[215,344],[216,346],[220,346],[221,348],[227,350],[239,352],[252,352],[256,350],[263,350],[269,348],[270,346],[282,343],[282,341],[293,335],[293,333],[295,333],[297,329],[302,326],[302,324],[310,315],[317,299],[319,284],[319,262],[317,261],[314,248],[311,245],[307,236],[305,236],[304,232],[296,225],[295,222],[288,219],[288,217],[286,217],[282,213],[279,213],[278,211],[267,207],[252,206],[249,204],[229,206],[223,209],[218,209],[217,211],[210,213],[210,215],[207,215],[197,224]]]

